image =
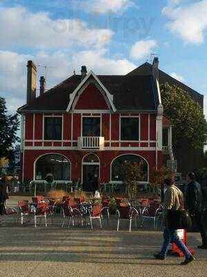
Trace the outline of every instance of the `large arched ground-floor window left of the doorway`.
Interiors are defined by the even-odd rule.
[[[70,180],[70,161],[59,154],[46,154],[37,160],[35,179],[46,179],[52,174],[54,180]]]

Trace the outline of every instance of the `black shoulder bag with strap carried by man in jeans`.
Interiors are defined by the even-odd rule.
[[[188,211],[184,209],[184,199],[181,196],[180,191],[179,191],[179,202],[180,202],[179,210],[175,210],[172,208],[171,210],[167,211],[168,228],[173,230],[190,229],[192,226],[192,220]]]

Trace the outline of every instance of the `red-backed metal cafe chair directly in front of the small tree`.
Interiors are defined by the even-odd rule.
[[[120,203],[117,209],[118,221],[117,221],[117,231],[119,231],[119,224],[123,220],[129,220],[130,226],[129,231],[132,229],[132,219],[135,219],[135,227],[137,228],[137,217],[139,212],[136,208],[132,208],[128,203]]]

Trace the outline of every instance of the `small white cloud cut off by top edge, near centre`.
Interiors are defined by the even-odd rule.
[[[80,6],[80,2],[79,3]],[[77,4],[76,4],[77,6]],[[121,12],[127,8],[135,6],[135,3],[130,0],[84,0],[81,1],[81,8],[86,12],[94,12],[97,14],[106,14],[109,12]]]

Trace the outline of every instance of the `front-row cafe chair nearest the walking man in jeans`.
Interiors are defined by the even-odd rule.
[[[156,229],[159,216],[161,215],[163,208],[160,204],[152,204],[144,207],[141,213],[141,226],[144,226],[144,220],[153,220],[153,227]]]

